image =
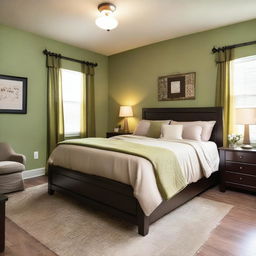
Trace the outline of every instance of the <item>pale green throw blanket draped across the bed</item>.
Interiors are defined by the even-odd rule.
[[[116,151],[140,156],[149,160],[154,167],[158,189],[162,197],[166,200],[173,197],[187,185],[176,155],[168,149],[105,138],[73,139],[60,142],[59,144],[71,144]]]

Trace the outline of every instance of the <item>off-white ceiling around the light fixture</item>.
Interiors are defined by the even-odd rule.
[[[112,55],[256,18],[256,0],[111,0],[119,26],[95,25],[104,0],[0,0],[0,23]]]

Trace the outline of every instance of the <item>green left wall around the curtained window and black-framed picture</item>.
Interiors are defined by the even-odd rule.
[[[28,78],[26,115],[0,114],[0,141],[10,143],[27,157],[27,169],[45,166],[47,73],[43,49],[78,59],[97,62],[95,72],[96,132],[105,136],[108,115],[108,58],[64,43],[0,25],[0,74]],[[80,65],[63,62],[79,70]],[[39,151],[39,160],[33,152]]]

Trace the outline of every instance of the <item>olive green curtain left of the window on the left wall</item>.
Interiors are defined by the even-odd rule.
[[[64,140],[64,116],[61,85],[61,59],[47,55],[48,106],[47,106],[47,150],[51,154],[59,141]]]

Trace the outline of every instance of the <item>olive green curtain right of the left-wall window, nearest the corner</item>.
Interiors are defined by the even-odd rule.
[[[81,132],[80,136],[95,137],[95,94],[94,67],[82,64],[84,84],[81,104]]]

